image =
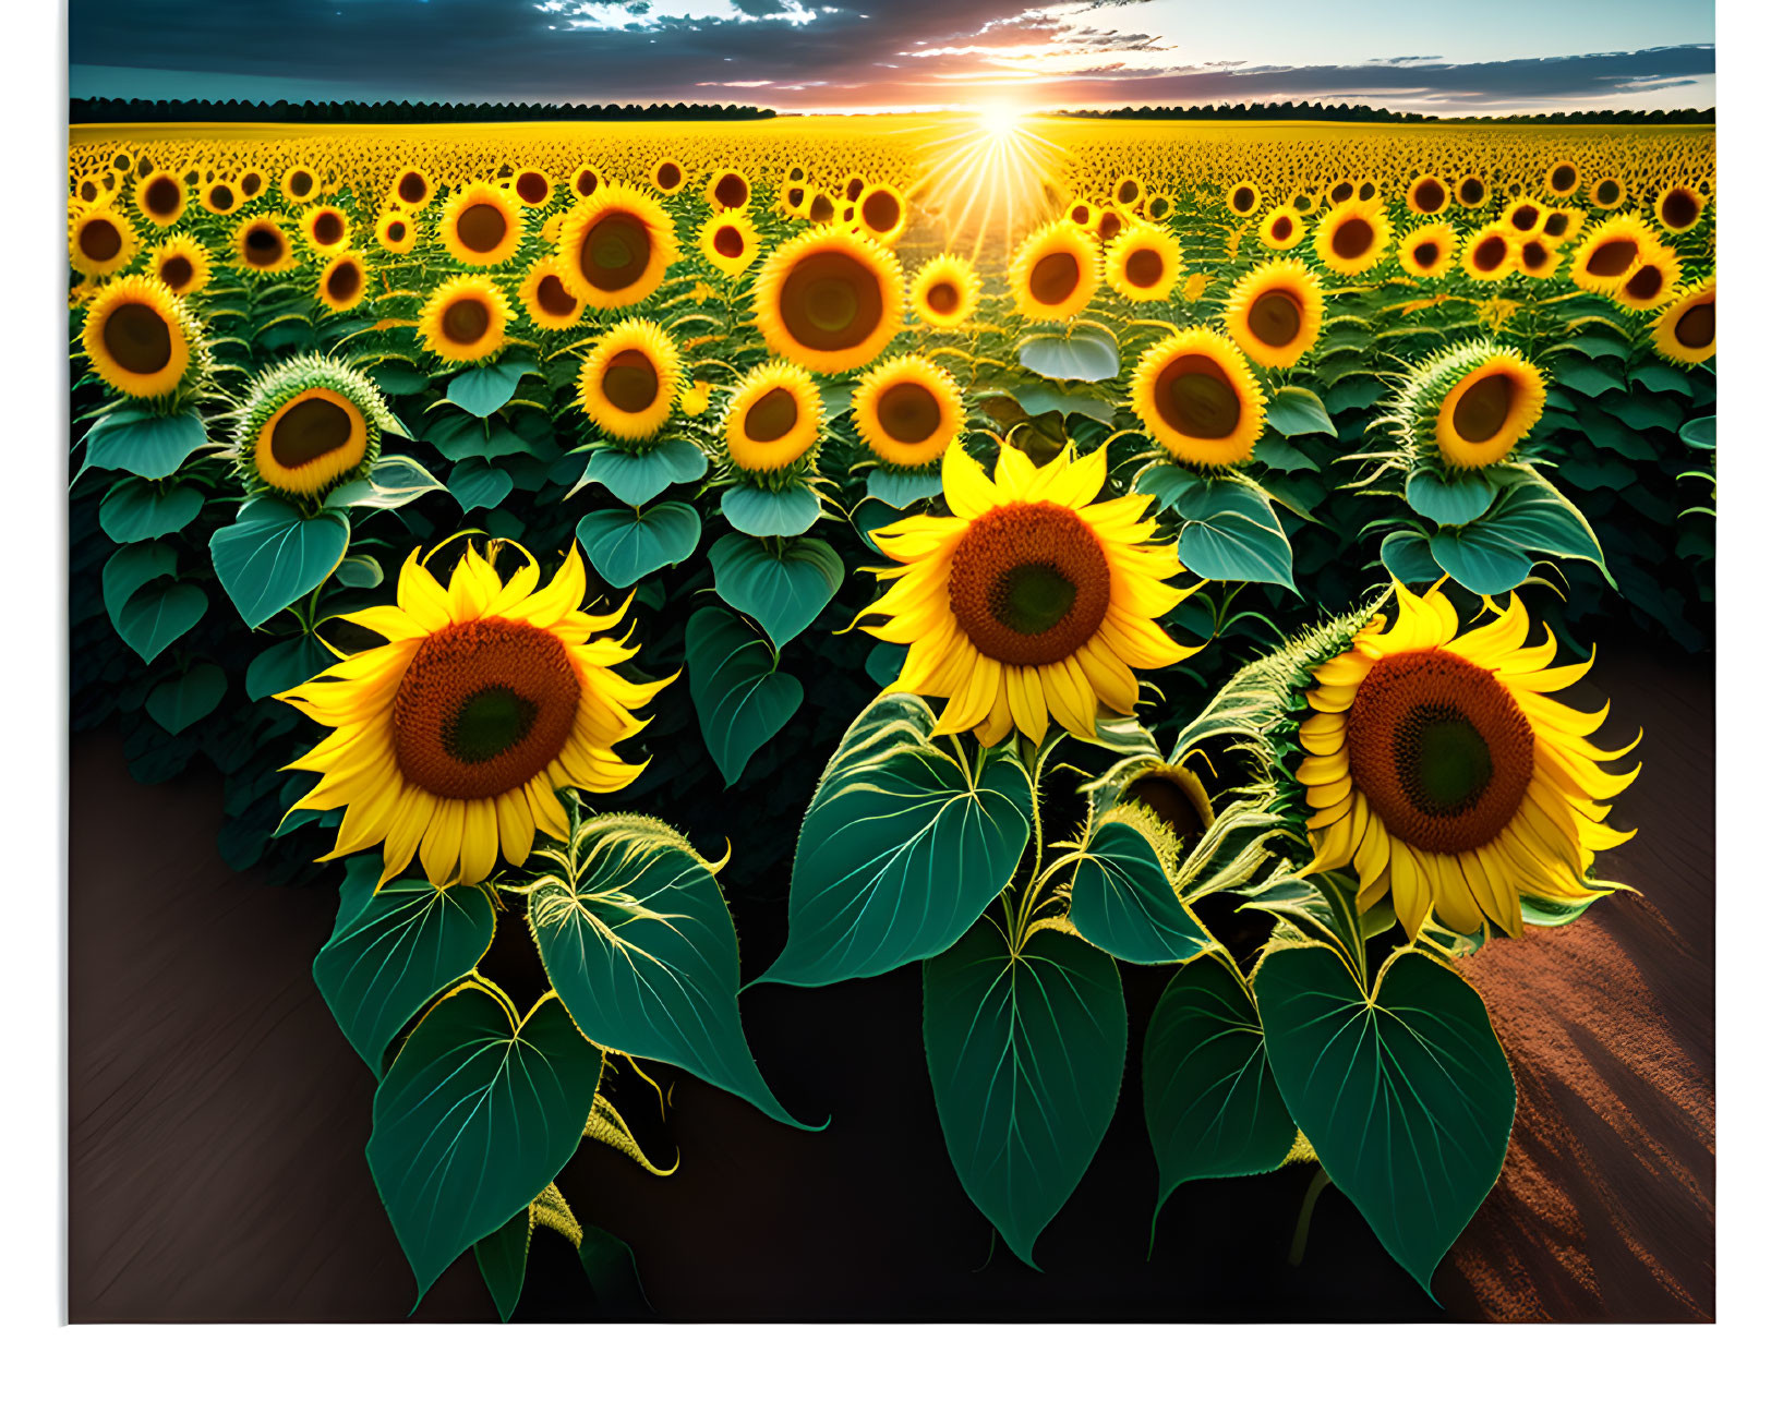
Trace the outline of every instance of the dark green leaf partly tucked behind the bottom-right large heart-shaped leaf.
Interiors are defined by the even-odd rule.
[[[1268,1173],[1294,1146],[1257,1002],[1223,950],[1184,964],[1164,987],[1143,1066],[1157,1212],[1184,1182]]]

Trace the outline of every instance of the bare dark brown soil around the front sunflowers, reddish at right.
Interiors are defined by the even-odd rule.
[[[1610,740],[1646,731],[1617,806],[1642,834],[1601,863],[1642,893],[1464,964],[1519,1105],[1503,1176],[1437,1271],[1441,1305],[1335,1191],[1287,1264],[1307,1166],[1179,1189],[1146,1257],[1138,1048],[1168,970],[1129,970],[1120,1107],[1039,1239],[1041,1271],[995,1244],[954,1178],[915,968],[744,995],[768,1084],[793,1114],[831,1116],[822,1134],[672,1075],[665,1116],[640,1082],[622,1109],[653,1157],[679,1151],[674,1176],[585,1144],[560,1184],[631,1242],[660,1319],[1713,1317],[1713,681],[1637,647],[1594,681],[1617,697]],[[332,886],[228,870],[216,775],[141,788],[111,733],[75,738],[70,788],[70,1317],[410,1315],[364,1159],[373,1080],[310,982]],[[777,952],[785,891],[731,897],[747,980]],[[528,952],[503,927],[496,955],[524,975]],[[412,1314],[492,1315],[469,1255]],[[594,1315],[574,1253],[538,1232],[517,1317]]]

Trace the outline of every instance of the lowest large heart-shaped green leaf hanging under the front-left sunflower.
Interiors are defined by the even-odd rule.
[[[556,996],[515,1025],[483,982],[448,993],[403,1043],[373,1100],[366,1160],[417,1303],[571,1160],[601,1062]]]

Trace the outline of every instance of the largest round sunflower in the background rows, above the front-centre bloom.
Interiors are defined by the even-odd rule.
[[[756,326],[776,355],[820,374],[872,364],[904,319],[897,258],[872,239],[813,228],[756,274]]]

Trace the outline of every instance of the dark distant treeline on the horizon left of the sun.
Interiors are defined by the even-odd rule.
[[[68,123],[118,121],[758,121],[770,107],[735,102],[148,102],[146,98],[70,98]]]

